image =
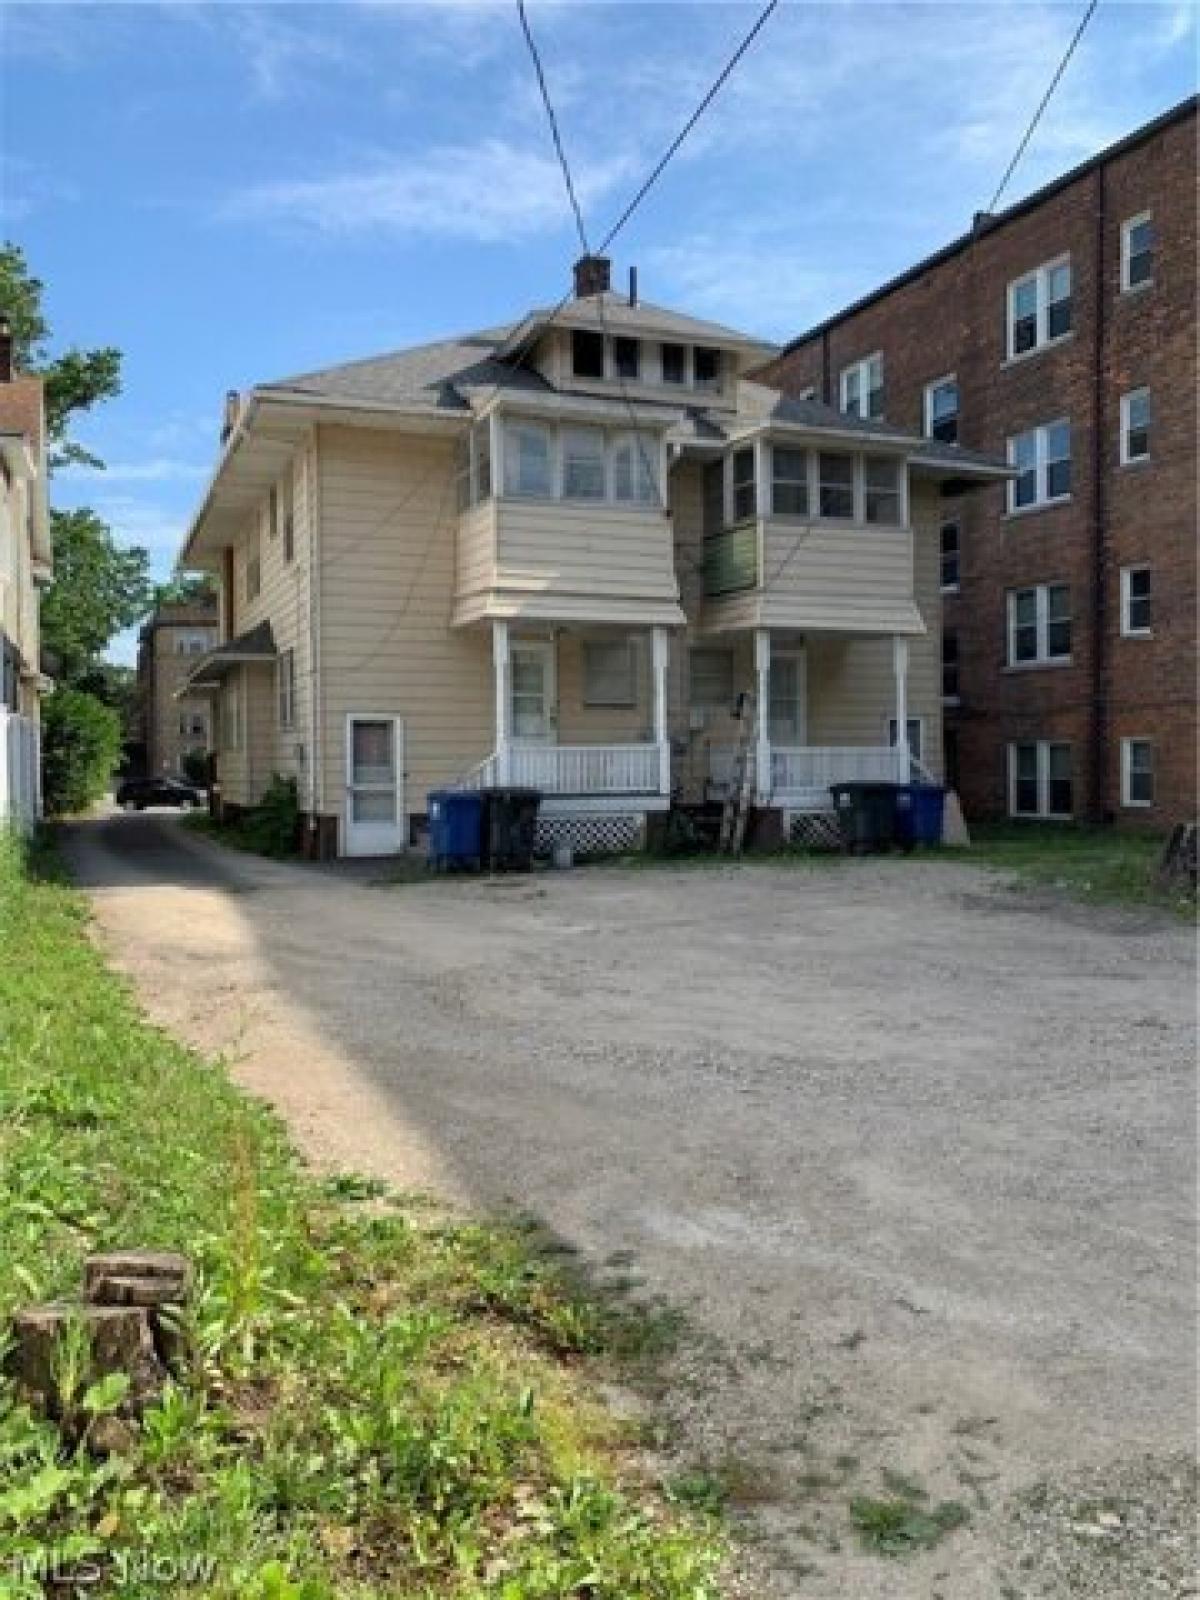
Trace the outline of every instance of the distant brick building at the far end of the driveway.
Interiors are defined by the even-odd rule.
[[[218,643],[216,595],[160,605],[138,635],[138,706],[147,774],[186,771],[186,757],[210,747],[211,699],[184,685]]]

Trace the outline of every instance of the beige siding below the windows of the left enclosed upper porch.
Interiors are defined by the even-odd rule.
[[[456,622],[678,622],[670,520],[658,509],[494,499],[458,530]]]

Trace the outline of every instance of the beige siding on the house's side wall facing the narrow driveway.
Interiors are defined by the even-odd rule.
[[[283,533],[272,536],[267,528],[266,498],[246,518],[245,530],[234,547],[234,637],[246,634],[259,622],[270,622],[275,648],[294,651],[293,725],[291,728],[278,725],[278,690],[274,666],[253,666],[243,670],[250,702],[243,714],[242,752],[224,749],[224,712],[219,704],[214,706],[213,715],[218,728],[218,776],[226,800],[235,805],[254,805],[262,798],[272,774],[280,773],[296,779],[301,810],[315,811],[318,806],[314,795],[314,662],[309,610],[315,483],[315,446],[312,443],[296,451],[291,462],[291,480],[293,560],[283,560]],[[258,597],[246,602],[246,562],[256,530],[262,582]],[[219,701],[219,696],[216,699]]]

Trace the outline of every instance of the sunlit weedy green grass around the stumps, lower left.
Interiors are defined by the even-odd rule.
[[[309,1176],[218,1062],[141,1018],[80,896],[11,842],[0,1019],[0,1318],[77,1293],[98,1248],[198,1269],[186,1365],[128,1453],[72,1445],[0,1382],[5,1600],[48,1568],[141,1600],[718,1592],[712,1518],[664,1502],[590,1398],[646,1323],[528,1229]]]

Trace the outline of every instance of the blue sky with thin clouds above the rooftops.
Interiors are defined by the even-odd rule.
[[[755,6],[531,0],[592,237]],[[987,203],[1082,5],[786,3],[614,246],[642,293],[787,338]],[[1102,0],[1006,198],[1195,86],[1190,0]],[[0,13],[0,229],[125,394],[58,477],[165,574],[226,389],[502,322],[576,242],[512,5]],[[130,640],[117,654],[130,659]]]

